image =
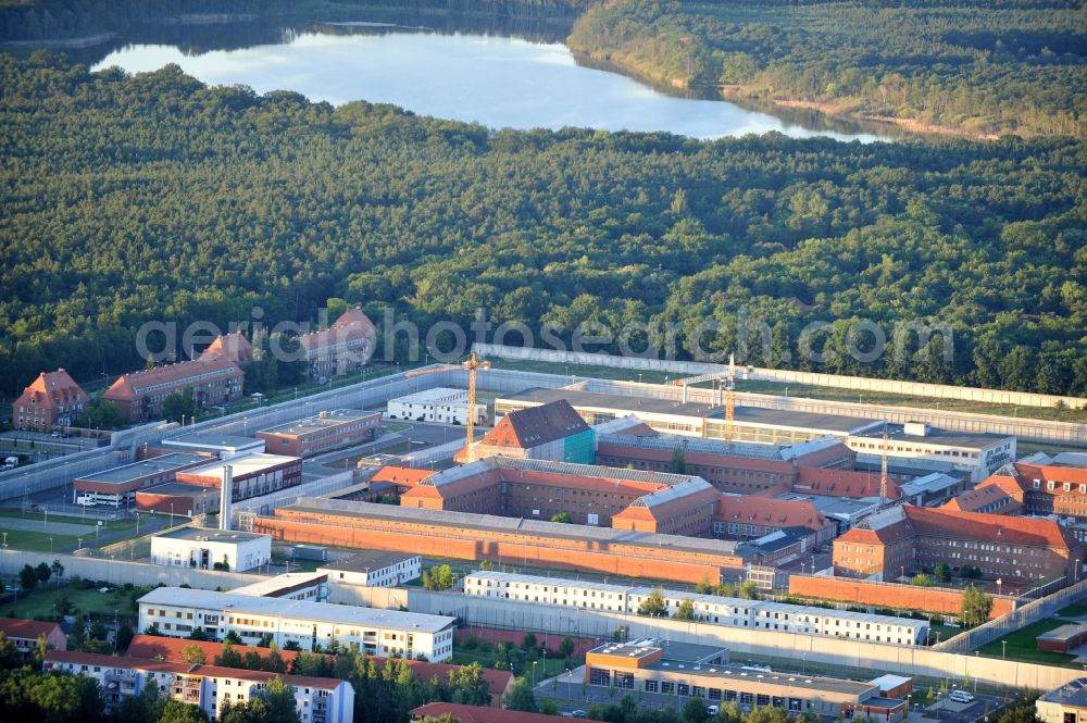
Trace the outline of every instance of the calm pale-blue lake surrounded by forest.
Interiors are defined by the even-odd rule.
[[[166,63],[210,84],[243,84],[258,92],[293,90],[334,104],[393,103],[421,115],[492,128],[579,126],[696,138],[777,130],[794,137],[877,139],[805,128],[720,100],[667,95],[619,73],[578,65],[563,45],[365,23],[199,54],[177,46],[132,45],[111,52],[93,70],[117,65],[139,73]]]

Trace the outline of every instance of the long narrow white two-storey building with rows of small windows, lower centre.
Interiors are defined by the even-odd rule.
[[[587,581],[539,577],[500,572],[474,572],[464,577],[464,594],[589,610],[637,614],[654,588],[627,587]],[[716,595],[662,589],[669,615],[684,600],[695,606],[695,618],[713,625],[842,637],[873,643],[922,645],[928,621],[828,610]]]

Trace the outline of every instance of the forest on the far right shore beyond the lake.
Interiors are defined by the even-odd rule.
[[[1087,135],[1077,0],[621,0],[569,45],[650,78],[975,136]]]

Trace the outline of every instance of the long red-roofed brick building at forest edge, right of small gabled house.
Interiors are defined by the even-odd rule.
[[[125,374],[102,398],[116,403],[129,422],[146,422],[159,419],[162,402],[175,392],[191,394],[198,409],[234,401],[241,397],[243,379],[233,361],[210,357]]]

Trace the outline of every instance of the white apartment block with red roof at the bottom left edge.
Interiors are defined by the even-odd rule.
[[[143,688],[157,685],[167,699],[198,706],[211,720],[216,720],[223,703],[246,703],[261,695],[270,681],[282,677],[295,689],[295,706],[301,723],[352,723],[354,720],[354,688],[339,678],[278,675],[64,650],[50,650],[42,668],[93,678],[102,689],[107,711],[116,710],[125,698],[138,696]]]

